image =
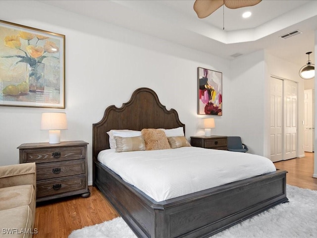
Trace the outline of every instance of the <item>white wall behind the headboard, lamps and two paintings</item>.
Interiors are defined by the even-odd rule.
[[[186,137],[202,134],[197,115],[197,67],[223,72],[223,116],[215,117],[214,134],[230,131],[229,62],[41,2],[0,1],[1,20],[66,36],[66,109],[0,107],[0,165],[18,163],[22,143],[48,142],[40,130],[42,112],[66,112],[68,130],[61,140],[89,142],[92,183],[92,124],[107,106],[130,99],[139,87],[156,91],[167,109],[178,111]]]

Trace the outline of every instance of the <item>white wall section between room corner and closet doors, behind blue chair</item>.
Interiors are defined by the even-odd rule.
[[[230,100],[232,130],[228,135],[241,136],[249,152],[264,155],[265,115],[264,51],[231,61]]]

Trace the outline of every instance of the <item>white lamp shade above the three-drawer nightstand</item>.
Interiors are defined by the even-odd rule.
[[[41,130],[67,129],[66,113],[42,113]]]

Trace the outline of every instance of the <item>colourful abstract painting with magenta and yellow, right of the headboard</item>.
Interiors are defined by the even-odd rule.
[[[197,68],[198,114],[222,116],[222,73]]]

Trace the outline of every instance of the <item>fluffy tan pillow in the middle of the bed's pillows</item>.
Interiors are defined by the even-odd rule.
[[[165,132],[160,129],[143,129],[146,150],[170,149]]]

